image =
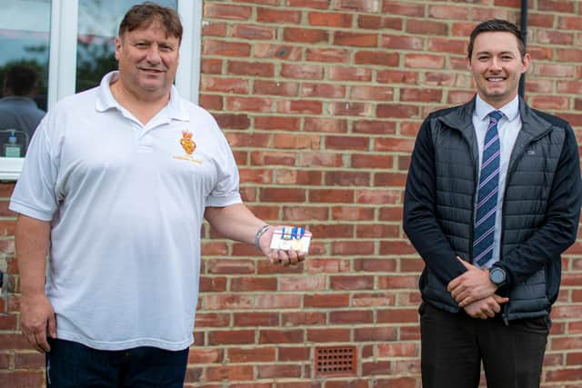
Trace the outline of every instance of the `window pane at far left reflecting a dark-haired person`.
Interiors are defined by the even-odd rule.
[[[45,114],[50,17],[50,0],[2,2],[0,157],[23,157]]]

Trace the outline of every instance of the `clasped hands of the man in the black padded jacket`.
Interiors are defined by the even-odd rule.
[[[447,286],[447,290],[459,307],[473,318],[493,318],[501,311],[501,304],[509,298],[497,295],[497,285],[489,280],[489,270],[482,270],[469,264],[460,257],[457,259],[465,265],[467,272],[457,276]]]

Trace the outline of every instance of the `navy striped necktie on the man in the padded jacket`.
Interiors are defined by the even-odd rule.
[[[499,134],[497,123],[503,113],[492,111],[483,145],[481,174],[477,190],[477,217],[473,241],[473,263],[488,267],[493,256],[493,234],[497,211],[497,192],[499,191]]]

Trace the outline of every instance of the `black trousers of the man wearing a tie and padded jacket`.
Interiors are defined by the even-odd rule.
[[[550,328],[548,317],[481,320],[422,303],[423,388],[477,388],[481,362],[488,388],[536,388]]]

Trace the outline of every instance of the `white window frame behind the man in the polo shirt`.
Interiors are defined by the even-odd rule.
[[[202,1],[178,0],[178,14],[184,26],[180,45],[180,65],[176,87],[180,95],[198,103],[200,51],[202,42]],[[78,0],[52,0],[50,52],[48,60],[47,107],[75,94]],[[25,158],[0,157],[0,180],[16,181]]]

